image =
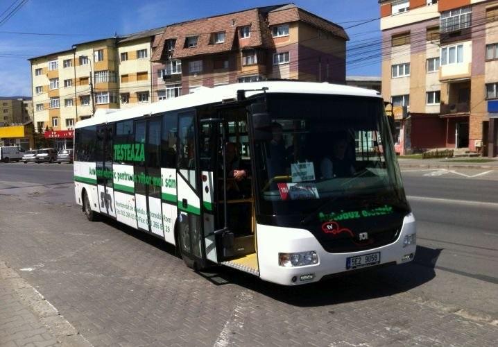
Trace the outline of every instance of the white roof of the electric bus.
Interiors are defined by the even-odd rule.
[[[330,94],[345,96],[370,96],[381,99],[381,95],[376,90],[367,90],[364,88],[350,87],[347,85],[334,85],[329,83],[314,83],[300,81],[262,81],[252,83],[235,83],[231,85],[221,85],[214,88],[200,87],[193,94],[179,96],[178,98],[159,101],[157,103],[148,103],[139,105],[134,108],[123,110],[105,110],[99,109],[95,112],[94,117],[78,121],[75,128],[103,124],[110,121],[119,121],[141,117],[143,115],[155,115],[157,113],[182,110],[198,105],[207,105],[210,103],[221,103],[227,100],[236,100],[238,90],[246,90],[246,96],[262,94],[263,88],[266,93],[295,93],[295,94]]]

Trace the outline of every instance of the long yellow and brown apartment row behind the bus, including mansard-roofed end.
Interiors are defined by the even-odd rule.
[[[345,83],[347,40],[341,26],[287,4],[74,44],[29,59],[35,131],[66,148],[74,123],[98,108],[263,79]]]

